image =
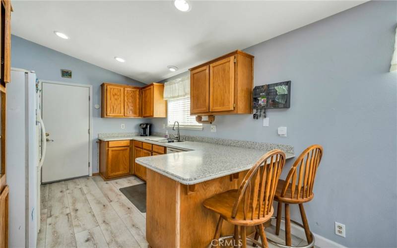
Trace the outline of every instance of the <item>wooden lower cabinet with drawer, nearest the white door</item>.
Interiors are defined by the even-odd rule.
[[[130,140],[101,141],[99,173],[105,180],[132,174]]]

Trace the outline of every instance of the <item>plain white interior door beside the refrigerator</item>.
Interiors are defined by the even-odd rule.
[[[89,88],[43,82],[42,118],[49,133],[42,182],[88,176]]]

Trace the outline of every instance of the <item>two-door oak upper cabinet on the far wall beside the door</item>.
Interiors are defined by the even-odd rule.
[[[124,84],[103,83],[102,118],[140,117],[140,88]]]

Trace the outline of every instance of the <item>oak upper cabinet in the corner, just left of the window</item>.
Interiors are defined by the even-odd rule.
[[[151,83],[142,88],[142,117],[167,117],[167,102],[163,98],[164,84]]]

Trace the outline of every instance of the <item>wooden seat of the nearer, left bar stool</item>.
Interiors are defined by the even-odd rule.
[[[256,226],[262,223],[265,223],[268,221],[271,216],[273,215],[273,207],[271,207],[271,210],[268,215],[265,215],[265,217],[258,218],[258,208],[255,210],[255,215],[254,215],[254,220],[251,218],[252,217],[252,208],[248,210],[247,213],[247,220],[244,219],[244,203],[240,203],[236,218],[232,218],[232,209],[234,206],[234,202],[237,199],[237,189],[232,189],[228,190],[226,192],[216,194],[212,196],[211,198],[206,199],[203,202],[204,207],[220,214],[226,221],[230,222],[233,225],[238,225],[238,226]],[[250,206],[252,205],[252,198],[250,201]],[[259,203],[258,203],[259,205]],[[264,209],[261,211],[261,216],[263,216]]]

